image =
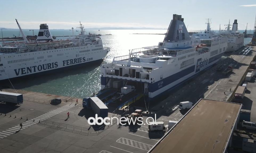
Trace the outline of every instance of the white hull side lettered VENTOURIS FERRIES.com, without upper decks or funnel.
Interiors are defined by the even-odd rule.
[[[81,52],[85,50],[85,47],[87,46],[27,53],[0,54],[0,63],[3,64],[0,70],[0,80],[92,62],[105,58],[108,53],[108,49]],[[89,47],[86,50],[95,48],[94,45],[90,45]]]

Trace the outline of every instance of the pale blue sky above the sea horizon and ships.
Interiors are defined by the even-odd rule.
[[[39,29],[46,23],[49,29],[71,29],[79,21],[85,28],[134,27],[168,28],[173,14],[182,15],[190,30],[206,28],[211,19],[213,30],[225,29],[225,24],[238,21],[238,29],[254,29],[255,0],[5,0],[1,3],[0,27]],[[3,13],[5,12],[5,13]]]

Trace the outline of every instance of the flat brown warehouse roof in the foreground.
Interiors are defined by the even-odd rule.
[[[150,153],[223,152],[241,104],[200,99]]]

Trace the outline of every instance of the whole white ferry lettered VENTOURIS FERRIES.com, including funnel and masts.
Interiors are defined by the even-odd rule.
[[[110,50],[103,47],[99,36],[85,34],[81,22],[80,35],[68,40],[53,40],[48,25],[41,24],[35,41],[28,41],[16,22],[24,41],[3,42],[0,47],[0,80],[100,62]]]

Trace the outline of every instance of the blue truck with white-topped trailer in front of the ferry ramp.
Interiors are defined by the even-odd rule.
[[[108,117],[108,107],[98,97],[86,97],[83,99],[83,107],[92,109],[98,117]]]

